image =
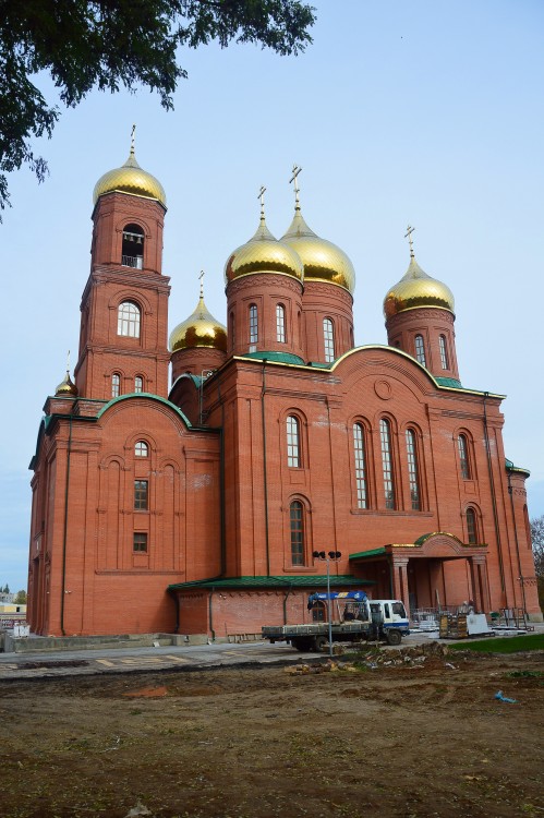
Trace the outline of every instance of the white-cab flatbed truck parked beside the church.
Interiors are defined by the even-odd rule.
[[[370,600],[364,591],[312,593],[307,601],[314,621],[305,625],[264,625],[270,642],[287,641],[300,651],[319,651],[329,640],[386,640],[400,645],[410,633],[403,603],[395,599]],[[330,626],[328,616],[330,615]]]

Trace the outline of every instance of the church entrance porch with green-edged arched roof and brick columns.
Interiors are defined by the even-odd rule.
[[[409,615],[468,601],[484,613],[492,610],[486,556],[486,545],[466,545],[454,534],[436,532],[414,543],[352,554],[350,563],[364,570],[365,579],[377,580],[380,596],[402,600]]]

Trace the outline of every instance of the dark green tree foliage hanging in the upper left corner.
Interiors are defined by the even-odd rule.
[[[301,0],[0,0],[0,209],[9,204],[7,172],[23,164],[38,181],[48,172],[32,140],[50,137],[60,111],[34,84],[40,72],[68,107],[95,87],[143,85],[169,109],[186,77],[180,47],[254,43],[297,55],[314,21]]]

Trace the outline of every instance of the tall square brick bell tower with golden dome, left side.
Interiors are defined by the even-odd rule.
[[[90,275],[81,302],[80,397],[168,395],[169,278],[161,273],[166,194],[131,152],[96,183]]]

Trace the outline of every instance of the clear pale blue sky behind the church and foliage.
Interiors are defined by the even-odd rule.
[[[423,269],[456,297],[463,385],[506,394],[507,456],[527,467],[544,514],[541,293],[544,3],[541,0],[317,0],[314,45],[298,58],[252,46],[183,53],[188,81],[156,95],[93,93],[36,145],[51,175],[10,179],[0,227],[0,584],[26,587],[28,462],[41,407],[77,350],[89,272],[92,193],[122,165],[137,123],[140,164],[168,197],[170,328],[197,300],[226,321],[222,269],[258,219],[278,238],[303,213],[358,276],[356,344],[386,342],[382,302],[406,272],[415,227]],[[46,77],[41,87],[55,99]]]

